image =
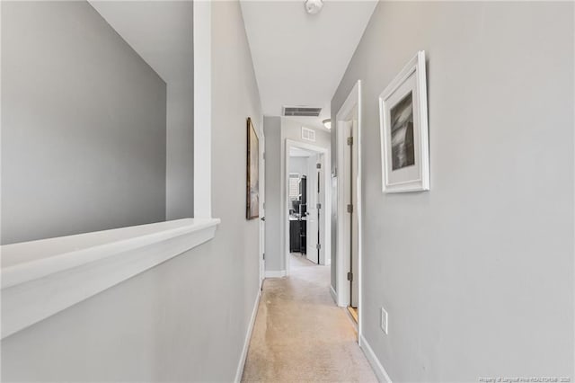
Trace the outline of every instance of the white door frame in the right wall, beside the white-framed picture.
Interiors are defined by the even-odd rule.
[[[350,290],[348,281],[348,271],[350,267],[349,259],[349,232],[347,230],[351,229],[351,219],[347,213],[347,200],[345,199],[346,190],[349,191],[349,179],[351,178],[351,169],[348,169],[344,165],[344,152],[347,150],[347,134],[345,126],[350,120],[354,118],[358,121],[358,137],[354,138],[353,145],[357,145],[357,156],[358,158],[354,160],[358,164],[358,177],[356,185],[356,193],[358,206],[354,207],[354,211],[358,214],[358,343],[361,345],[361,335],[362,335],[362,314],[363,314],[363,289],[362,289],[362,258],[363,258],[363,225],[362,225],[362,211],[363,211],[363,201],[362,201],[362,179],[361,179],[361,129],[362,129],[362,116],[361,116],[361,80],[358,80],[356,85],[348,95],[348,98],[343,105],[341,105],[340,111],[336,114],[336,123],[334,124],[336,128],[336,144],[337,144],[337,168],[336,176],[338,178],[337,190],[338,190],[338,213],[337,213],[337,243],[336,243],[336,296],[337,305],[340,307],[348,307],[350,302]],[[355,112],[354,112],[355,110]],[[354,278],[356,276],[354,275]]]

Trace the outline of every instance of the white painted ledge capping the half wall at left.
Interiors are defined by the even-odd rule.
[[[0,246],[2,338],[201,245],[217,218],[184,218]]]

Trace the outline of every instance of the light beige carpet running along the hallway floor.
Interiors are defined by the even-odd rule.
[[[345,308],[330,294],[330,267],[291,256],[287,278],[264,281],[244,382],[376,382]]]

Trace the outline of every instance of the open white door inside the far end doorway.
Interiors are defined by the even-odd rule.
[[[317,155],[309,156],[307,160],[307,229],[305,231],[305,256],[313,263],[319,263],[317,249],[318,210],[317,210]]]

